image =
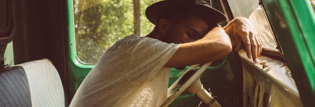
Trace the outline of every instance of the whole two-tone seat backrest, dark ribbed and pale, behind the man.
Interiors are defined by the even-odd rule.
[[[0,107],[62,107],[60,76],[48,59],[0,69]]]

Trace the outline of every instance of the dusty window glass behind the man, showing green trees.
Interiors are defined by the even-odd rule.
[[[161,0],[73,0],[78,59],[95,64],[118,39],[134,33],[146,36],[154,25],[145,9],[157,1]]]

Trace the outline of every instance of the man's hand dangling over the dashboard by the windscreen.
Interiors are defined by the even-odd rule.
[[[243,40],[247,57],[253,58],[257,62],[257,57],[261,55],[262,47],[258,34],[253,25],[246,18],[236,18],[232,20],[224,30],[231,39],[234,52],[240,49],[240,42]]]

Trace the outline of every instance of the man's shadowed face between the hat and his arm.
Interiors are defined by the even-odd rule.
[[[208,25],[202,18],[191,16],[186,20],[174,22],[166,32],[168,43],[194,42],[203,38],[217,24]]]

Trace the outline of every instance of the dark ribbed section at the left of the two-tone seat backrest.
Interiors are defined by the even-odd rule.
[[[31,93],[21,66],[0,69],[0,107],[30,107]]]

